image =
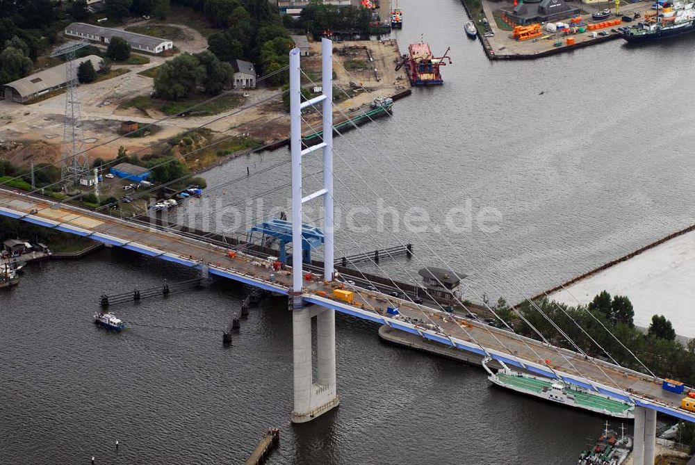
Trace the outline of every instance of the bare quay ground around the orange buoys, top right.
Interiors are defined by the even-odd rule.
[[[639,12],[642,17],[644,17],[644,12],[645,11],[651,11],[651,4],[653,2],[651,1],[639,1],[637,3],[621,3],[620,10],[619,10],[619,15],[617,15],[617,18],[622,17],[622,16],[632,16],[634,15],[635,12]],[[604,8],[610,8],[612,12],[615,12],[615,3],[614,2],[605,2],[605,3],[594,3],[591,5],[587,5],[585,3],[578,3],[578,2],[572,2],[568,3],[573,6],[578,6],[582,8],[583,13],[582,13],[582,18],[584,18],[584,24],[593,24],[596,23],[591,19],[591,13],[593,13],[596,10],[603,10]],[[493,56],[496,56],[498,58],[510,58],[514,56],[528,56],[532,57],[534,55],[539,55],[539,54],[548,54],[548,52],[555,52],[555,51],[564,51],[564,50],[569,50],[570,48],[567,47],[567,41],[566,39],[568,37],[574,38],[575,44],[582,44],[583,42],[605,42],[605,40],[609,38],[618,38],[619,33],[612,32],[611,30],[620,26],[630,26],[633,24],[636,24],[637,21],[640,19],[637,19],[637,21],[632,21],[632,22],[623,22],[622,24],[619,24],[619,26],[610,26],[607,28],[602,28],[598,29],[596,31],[586,31],[584,33],[576,33],[576,34],[571,34],[571,35],[562,35],[562,33],[551,33],[546,31],[545,29],[545,24],[543,24],[543,35],[541,35],[540,38],[537,38],[537,40],[516,40],[515,38],[512,37],[512,31],[505,31],[504,29],[500,28],[500,26],[497,24],[496,20],[494,19],[494,13],[497,12],[500,9],[505,9],[505,10],[512,10],[514,8],[514,3],[512,1],[491,1],[491,0],[482,0],[482,8],[485,13],[485,17],[488,20],[489,23],[489,30],[493,31],[495,35],[492,37],[486,37],[484,38],[484,42],[489,43],[490,50],[493,54]],[[569,24],[569,17],[564,18],[564,19],[558,19],[555,22],[564,22]],[[612,15],[609,19],[616,19],[615,15]],[[480,26],[480,25],[479,25]],[[480,27],[479,27],[480,30]],[[605,31],[609,33],[609,37],[605,37],[604,35],[600,35],[601,31]],[[598,33],[598,37],[594,38],[593,37],[593,32]],[[610,37],[614,36],[614,37]],[[555,47],[555,42],[562,41],[562,46],[560,47]]]

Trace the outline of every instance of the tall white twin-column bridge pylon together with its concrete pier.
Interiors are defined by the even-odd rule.
[[[304,423],[340,403],[336,391],[336,316],[333,309],[302,303],[302,204],[323,197],[324,278],[333,279],[333,42],[321,41],[322,94],[302,102],[300,49],[290,51],[290,147],[292,152],[291,293],[294,408],[292,421]],[[322,104],[322,142],[302,150],[302,109]],[[302,196],[302,157],[323,154],[323,187]],[[311,318],[316,316],[316,382],[313,379]]]

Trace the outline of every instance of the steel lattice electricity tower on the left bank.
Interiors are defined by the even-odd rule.
[[[60,176],[63,183],[79,184],[80,178],[89,175],[89,160],[82,152],[84,132],[80,102],[77,97],[77,66],[74,61],[75,52],[86,47],[87,40],[67,42],[51,54],[65,56],[65,122],[63,123],[63,163],[60,166]]]

